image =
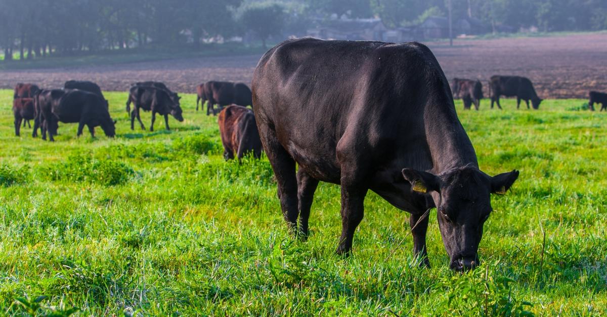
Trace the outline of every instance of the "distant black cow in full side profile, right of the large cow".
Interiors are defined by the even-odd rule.
[[[520,108],[521,99],[526,102],[527,109],[529,109],[529,100],[531,100],[531,105],[536,110],[540,107],[540,103],[543,100],[537,96],[533,84],[526,77],[492,76],[489,81],[489,88],[492,92],[491,108],[493,108],[493,102],[496,102],[497,107],[501,109],[500,96],[516,96],[517,109]]]

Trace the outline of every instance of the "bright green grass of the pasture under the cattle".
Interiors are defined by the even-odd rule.
[[[432,269],[419,269],[408,214],[374,193],[354,255],[334,255],[336,185],[317,191],[310,239],[291,239],[267,159],[224,162],[216,118],[194,111],[194,95],[185,122],[150,133],[130,130],[126,93],[107,93],[117,138],[62,124],[55,143],[13,135],[11,95],[0,92],[0,315],[607,313],[607,114],[572,110],[585,101],[457,102],[481,168],[521,171],[492,198],[483,264],[460,274],[434,210]]]

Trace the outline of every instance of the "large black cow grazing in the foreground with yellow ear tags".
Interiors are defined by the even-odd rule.
[[[257,65],[253,103],[292,232],[308,235],[314,191],[331,182],[341,184],[337,253],[350,253],[372,190],[411,213],[413,250],[423,264],[427,214],[438,207],[450,267],[478,265],[490,193],[506,192],[518,171],[492,177],[478,168],[449,83],[425,45],[282,42]]]

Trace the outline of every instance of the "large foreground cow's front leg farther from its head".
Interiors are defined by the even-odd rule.
[[[352,240],[356,227],[364,216],[364,201],[367,188],[361,185],[347,185],[342,182],[341,187],[341,216],[342,234],[337,246],[337,254],[350,255]]]

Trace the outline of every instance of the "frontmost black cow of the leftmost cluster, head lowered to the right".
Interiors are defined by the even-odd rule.
[[[78,122],[78,136],[82,135],[84,125],[87,125],[91,136],[95,136],[95,127],[101,126],[106,136],[114,138],[115,121],[110,117],[104,99],[94,93],[83,90],[45,90],[41,96],[49,102],[41,103],[44,123],[42,124],[42,139],[49,132],[50,141],[55,141],[58,122]],[[40,97],[40,96],[39,96]]]

